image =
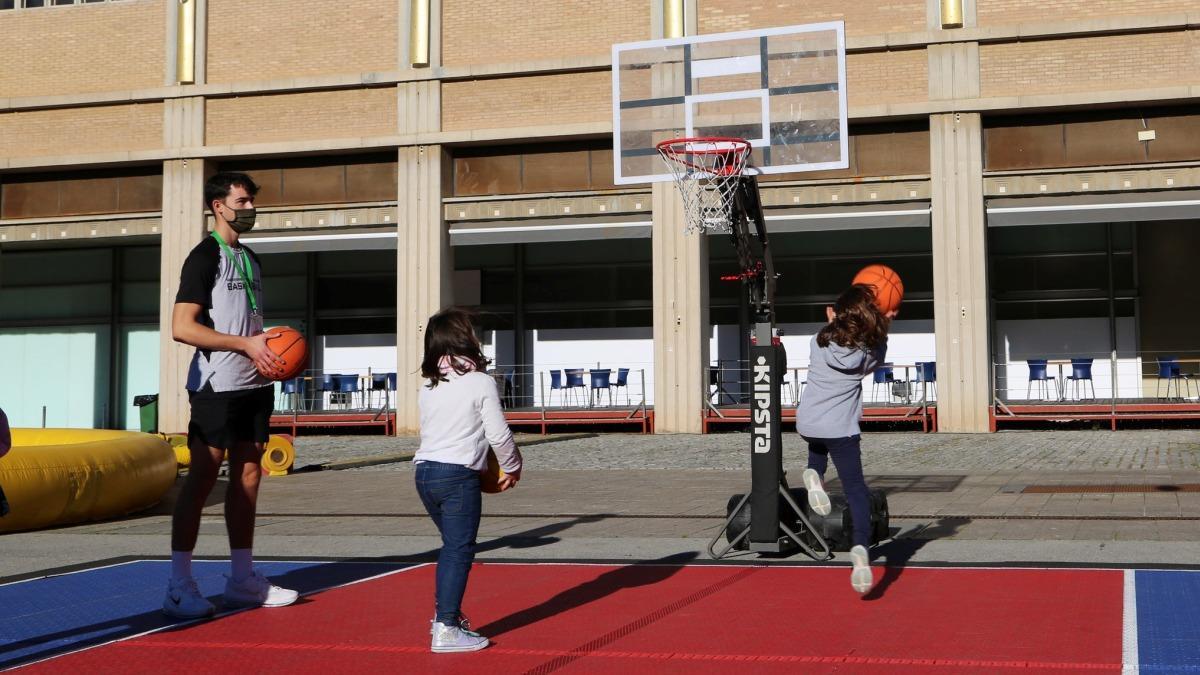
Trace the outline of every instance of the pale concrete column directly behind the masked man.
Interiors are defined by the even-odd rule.
[[[184,259],[204,237],[204,160],[169,160],[162,166],[162,252],[158,282],[158,429],[186,431],[187,365],[192,347],[170,336],[170,315]]]

